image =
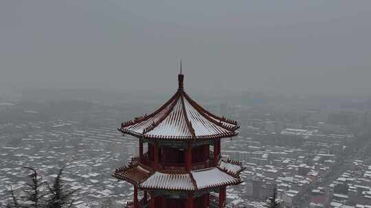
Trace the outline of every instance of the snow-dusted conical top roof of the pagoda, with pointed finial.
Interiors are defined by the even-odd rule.
[[[149,115],[123,122],[120,131],[138,138],[157,140],[210,140],[237,135],[235,120],[215,116],[193,101],[183,90],[184,75],[178,75],[177,92]]]

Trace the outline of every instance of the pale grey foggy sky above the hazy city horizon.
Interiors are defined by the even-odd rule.
[[[0,1],[0,88],[371,90],[371,1]]]

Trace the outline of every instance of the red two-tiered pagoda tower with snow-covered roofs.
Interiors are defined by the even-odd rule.
[[[139,157],[113,173],[134,186],[126,207],[225,207],[226,187],[242,182],[241,163],[221,157],[221,139],[237,135],[237,122],[207,112],[183,79],[180,73],[177,92],[159,109],[118,129],[139,139]]]

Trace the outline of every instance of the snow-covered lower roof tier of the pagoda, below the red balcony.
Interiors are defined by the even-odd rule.
[[[116,169],[113,177],[128,181],[144,190],[196,191],[241,183],[243,167],[237,161],[221,160],[213,168],[189,172],[150,170],[142,164]]]

